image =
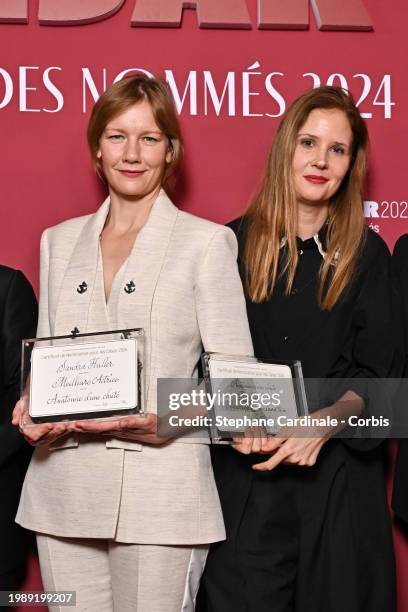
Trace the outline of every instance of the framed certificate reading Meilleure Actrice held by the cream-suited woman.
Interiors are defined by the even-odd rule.
[[[143,329],[23,340],[22,425],[143,412],[143,353]]]

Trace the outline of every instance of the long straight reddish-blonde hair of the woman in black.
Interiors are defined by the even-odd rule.
[[[320,269],[318,290],[322,310],[333,308],[356,270],[366,232],[363,195],[368,132],[351,95],[340,87],[322,86],[304,93],[287,109],[276,132],[260,189],[245,213],[245,284],[249,297],[257,303],[271,297],[280,272],[286,275],[286,293],[292,290],[298,263],[293,157],[299,130],[314,109],[344,112],[353,134],[350,167],[329,202],[327,255]],[[280,270],[282,239],[286,258]]]

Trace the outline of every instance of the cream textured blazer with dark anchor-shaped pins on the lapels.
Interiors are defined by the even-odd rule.
[[[161,191],[106,304],[99,236],[108,211],[109,199],[93,215],[45,230],[37,336],[143,327],[147,410],[154,412],[157,378],[197,377],[203,347],[252,354],[236,239],[178,210]],[[131,281],[134,291],[125,291]],[[207,444],[152,447],[85,434],[61,440],[34,452],[16,518],[24,527],[140,544],[225,537]]]

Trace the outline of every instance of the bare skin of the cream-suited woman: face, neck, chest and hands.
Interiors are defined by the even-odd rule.
[[[115,275],[129,256],[137,234],[146,223],[161,188],[166,164],[172,159],[168,138],[156,124],[148,102],[138,102],[106,126],[99,141],[97,158],[108,184],[110,211],[101,234],[105,299]],[[155,414],[127,416],[115,421],[70,421],[21,426],[27,413],[27,398],[13,411],[12,423],[19,426],[30,444],[46,446],[70,432],[87,432],[145,444],[163,444],[157,435]]]

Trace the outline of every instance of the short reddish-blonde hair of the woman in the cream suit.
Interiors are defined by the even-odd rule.
[[[111,85],[93,107],[88,124],[88,145],[94,167],[102,174],[101,164],[97,157],[99,141],[107,124],[139,102],[148,102],[159,129],[168,139],[172,159],[166,165],[162,178],[163,187],[171,187],[171,179],[183,159],[183,139],[174,98],[167,83],[145,74],[126,76]]]

